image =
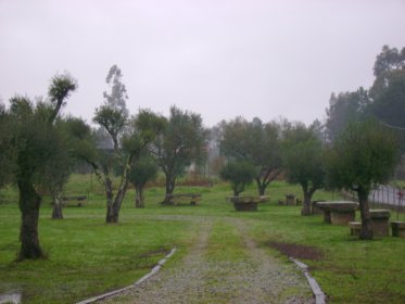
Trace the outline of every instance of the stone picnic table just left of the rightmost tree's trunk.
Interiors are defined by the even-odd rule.
[[[347,225],[354,221],[358,203],[351,201],[317,202],[324,212],[324,221],[332,225]]]

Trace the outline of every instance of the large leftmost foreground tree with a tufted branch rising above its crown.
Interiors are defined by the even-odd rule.
[[[9,113],[12,119],[12,145],[15,149],[15,180],[18,187],[18,206],[22,214],[20,231],[20,259],[43,256],[38,237],[38,218],[41,195],[46,180],[52,174],[49,164],[58,164],[58,154],[63,143],[54,127],[65,100],[77,88],[68,74],[56,75],[49,87],[49,102],[34,104],[29,99],[15,97],[10,100]]]

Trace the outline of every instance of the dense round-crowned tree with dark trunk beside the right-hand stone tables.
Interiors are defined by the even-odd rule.
[[[367,119],[350,124],[327,153],[326,170],[331,187],[357,192],[360,239],[372,239],[368,195],[372,186],[385,182],[397,163],[398,143],[392,130]]]

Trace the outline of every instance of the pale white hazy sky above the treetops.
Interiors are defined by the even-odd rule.
[[[0,98],[68,71],[65,113],[91,122],[117,64],[132,114],[308,124],[332,91],[371,85],[383,45],[405,47],[404,0],[0,0]]]

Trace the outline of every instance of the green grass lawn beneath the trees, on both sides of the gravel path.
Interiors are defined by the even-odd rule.
[[[212,188],[181,187],[177,191],[200,192],[198,206],[161,206],[161,188],[147,191],[144,210],[134,207],[134,192],[123,204],[118,225],[105,225],[101,189],[89,176],[75,176],[67,194],[87,194],[83,207],[65,207],[63,220],[52,220],[45,201],[39,221],[40,242],[47,259],[14,262],[18,251],[20,211],[15,192],[0,195],[0,293],[23,292],[25,303],[74,303],[96,294],[122,288],[149,273],[168,250],[178,249],[166,267],[174,265],[191,246],[198,225],[181,215],[215,219],[211,253],[215,258],[243,258],[244,251],[233,251],[240,241],[236,231],[220,223],[220,217],[243,220],[251,237],[261,246],[271,242],[295,243],[317,249],[319,259],[302,261],[328,295],[329,303],[405,303],[405,239],[380,238],[359,241],[349,236],[347,227],[322,223],[320,215],[303,217],[299,206],[279,206],[286,193],[301,197],[300,188],[284,182],[270,185],[270,202],[257,212],[238,213],[225,197],[227,185]],[[245,194],[255,194],[250,188]],[[337,194],[315,193],[314,200],[339,199]],[[172,215],[165,217],[160,215]],[[178,216],[175,217],[174,215]],[[392,215],[396,218],[396,215]],[[404,215],[401,215],[405,220]],[[172,218],[172,219],[169,219]],[[357,215],[359,218],[359,215]],[[226,231],[231,238],[222,238]],[[284,263],[287,257],[271,249]]]

